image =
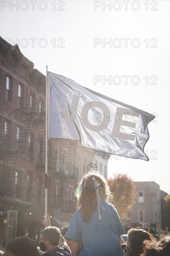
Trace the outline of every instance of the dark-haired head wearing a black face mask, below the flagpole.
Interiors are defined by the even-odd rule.
[[[61,231],[57,227],[46,227],[40,232],[41,235],[41,243],[39,244],[39,248],[42,251],[50,251],[51,249],[55,249],[59,246]]]

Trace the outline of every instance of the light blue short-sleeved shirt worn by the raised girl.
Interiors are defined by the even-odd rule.
[[[125,233],[115,207],[102,201],[105,211],[101,210],[102,219],[98,219],[96,210],[89,222],[84,222],[81,213],[77,210],[72,217],[65,236],[76,242],[82,241],[83,249],[79,256],[124,256],[119,245],[119,236]]]

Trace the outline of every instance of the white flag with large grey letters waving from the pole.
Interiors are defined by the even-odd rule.
[[[147,125],[155,118],[143,110],[82,87],[48,72],[50,81],[49,138],[81,141],[82,146],[130,158],[144,154]]]

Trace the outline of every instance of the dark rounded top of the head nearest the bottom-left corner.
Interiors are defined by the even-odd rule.
[[[40,256],[36,242],[27,236],[20,236],[7,244],[3,256]]]

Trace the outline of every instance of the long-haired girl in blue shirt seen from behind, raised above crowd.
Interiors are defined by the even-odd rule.
[[[98,172],[88,172],[80,181],[75,193],[78,208],[65,234],[72,240],[72,256],[124,255],[119,239],[125,231],[117,210],[107,202],[109,192],[105,178]]]

